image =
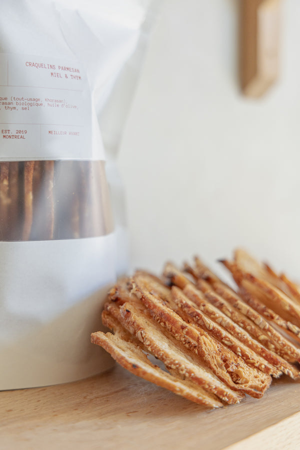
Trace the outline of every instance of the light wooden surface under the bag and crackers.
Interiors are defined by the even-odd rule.
[[[1,450],[300,448],[300,382],[287,377],[262,399],[209,410],[115,366],[77,382],[2,391],[0,405]]]

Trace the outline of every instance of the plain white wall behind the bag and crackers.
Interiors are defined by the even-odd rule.
[[[237,4],[162,3],[118,158],[132,268],[241,245],[300,280],[300,1],[261,100],[239,92]]]

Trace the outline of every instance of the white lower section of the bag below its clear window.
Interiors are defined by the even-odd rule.
[[[115,233],[1,242],[0,389],[73,381],[111,367],[90,333],[103,326],[114,281]]]

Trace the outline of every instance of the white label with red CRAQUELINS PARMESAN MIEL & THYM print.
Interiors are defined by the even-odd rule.
[[[104,159],[77,61],[0,54],[0,159]]]

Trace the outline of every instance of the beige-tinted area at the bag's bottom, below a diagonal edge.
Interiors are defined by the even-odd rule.
[[[100,289],[25,338],[2,348],[0,388],[74,381],[112,367],[110,355],[89,341],[91,332],[103,328],[99,299],[106,293],[107,288]]]

